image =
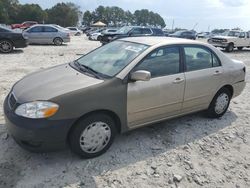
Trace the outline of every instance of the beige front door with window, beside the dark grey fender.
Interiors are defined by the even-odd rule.
[[[161,47],[132,70],[149,71],[151,79],[128,83],[127,117],[130,128],[180,113],[185,86],[180,59],[179,47]]]

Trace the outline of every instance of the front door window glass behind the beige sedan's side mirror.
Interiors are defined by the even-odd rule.
[[[136,70],[149,71],[152,78],[179,73],[179,47],[164,47],[155,50],[135,67],[134,71]]]

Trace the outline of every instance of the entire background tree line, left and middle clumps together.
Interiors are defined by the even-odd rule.
[[[24,21],[53,23],[63,27],[74,26],[79,19],[85,25],[102,21],[109,26],[142,25],[165,27],[163,18],[147,9],[134,13],[119,7],[99,6],[94,11],[86,11],[83,16],[80,7],[74,3],[57,3],[49,9],[42,9],[38,4],[20,4],[18,0],[0,0],[0,23],[13,24]]]

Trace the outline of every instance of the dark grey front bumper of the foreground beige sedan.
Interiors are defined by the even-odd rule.
[[[67,135],[75,120],[29,119],[15,114],[4,101],[5,125],[14,140],[24,149],[47,152],[67,146]]]

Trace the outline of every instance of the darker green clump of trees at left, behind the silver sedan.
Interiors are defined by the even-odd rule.
[[[74,3],[57,3],[43,10],[38,4],[20,4],[18,0],[0,0],[0,23],[13,24],[24,21],[58,24],[63,27],[76,25],[80,8]]]

